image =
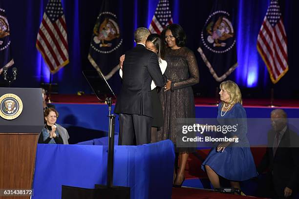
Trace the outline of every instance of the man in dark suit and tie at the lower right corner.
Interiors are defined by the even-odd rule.
[[[296,195],[299,183],[299,142],[297,132],[287,124],[287,114],[282,109],[271,112],[273,129],[268,132],[268,147],[258,173],[268,172],[259,186],[259,196],[290,198]]]

